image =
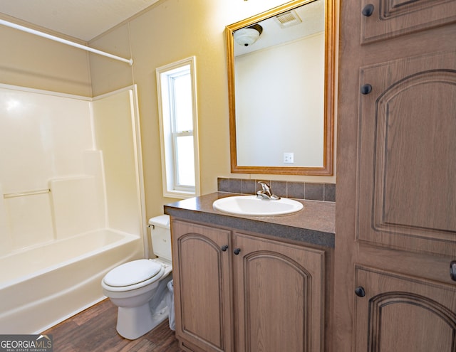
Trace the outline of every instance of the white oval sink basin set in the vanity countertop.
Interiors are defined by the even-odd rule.
[[[217,199],[214,209],[222,213],[248,216],[275,216],[296,213],[303,208],[302,203],[289,198],[269,201],[257,196],[232,196]]]

